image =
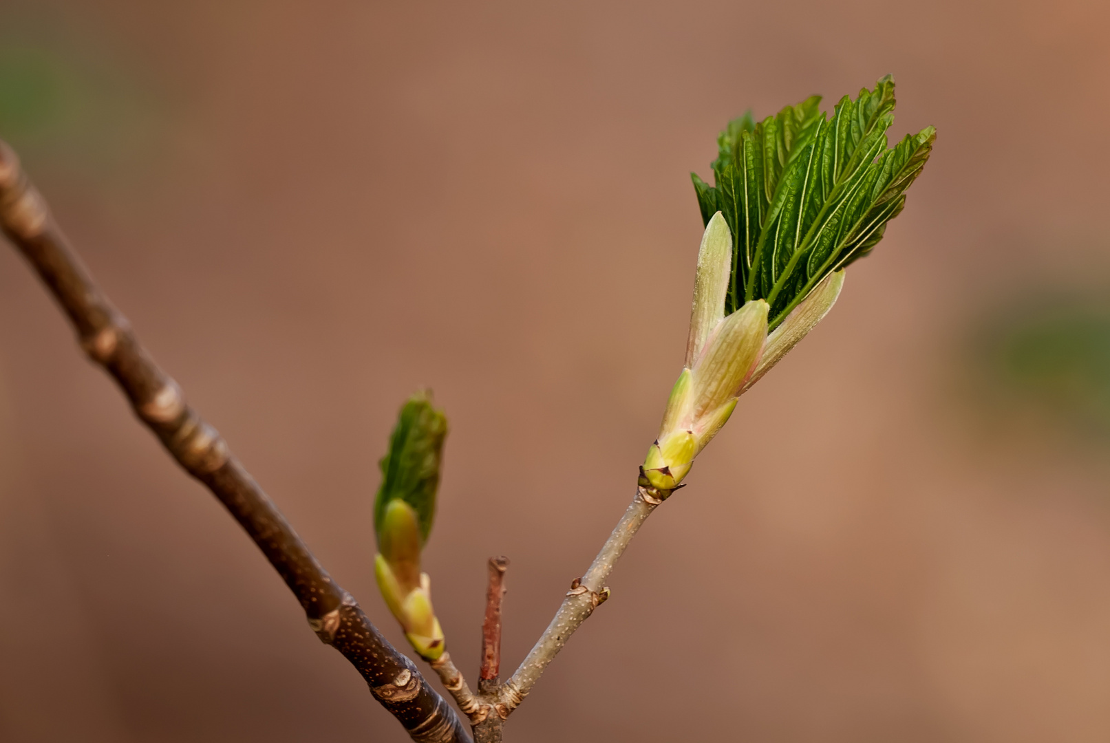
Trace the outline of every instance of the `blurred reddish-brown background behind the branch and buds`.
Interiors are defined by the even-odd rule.
[[[426,552],[514,668],[682,363],[688,172],[892,72],[932,161],[745,396],[509,740],[1110,740],[1110,8],[0,1],[0,136],[394,641],[376,460],[452,421]],[[0,739],[407,740],[0,251]]]

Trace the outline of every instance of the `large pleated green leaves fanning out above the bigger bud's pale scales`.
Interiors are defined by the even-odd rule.
[[[887,146],[895,81],[880,79],[833,114],[813,95],[757,122],[734,119],[717,138],[714,185],[692,173],[703,222],[718,211],[733,235],[725,314],[766,299],[775,329],[825,277],[882,240],[925,167],[937,132]]]

